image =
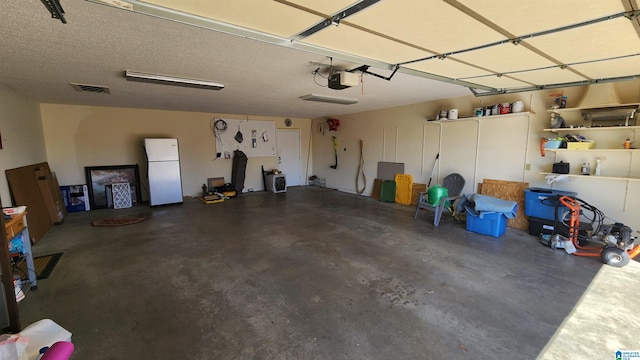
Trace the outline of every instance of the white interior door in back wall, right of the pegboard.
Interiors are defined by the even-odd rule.
[[[287,186],[302,185],[300,159],[300,130],[277,131],[278,170],[284,175]]]

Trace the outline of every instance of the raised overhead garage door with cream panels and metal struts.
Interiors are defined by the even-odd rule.
[[[96,0],[101,1],[101,0]],[[283,46],[384,63],[489,93],[640,74],[637,4],[629,0],[130,1],[274,36]],[[143,5],[144,4],[144,5]],[[232,30],[230,30],[232,31]],[[635,60],[635,61],[634,61]],[[597,66],[590,66],[596,64]],[[606,69],[615,68],[611,72]],[[559,71],[561,70],[561,71]]]

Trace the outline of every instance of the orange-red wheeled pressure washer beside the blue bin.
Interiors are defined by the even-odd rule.
[[[561,196],[559,200],[569,209],[558,220],[568,227],[568,238],[577,250],[573,253],[574,255],[600,256],[607,265],[623,267],[629,263],[630,259],[640,254],[640,244],[634,246],[636,237],[631,237],[630,227],[621,223],[603,225],[604,214],[578,198]],[[557,211],[556,217],[558,217]],[[591,224],[581,226],[581,217],[590,219]],[[593,228],[594,225],[595,228]],[[599,238],[601,246],[588,246],[589,239],[594,237]]]

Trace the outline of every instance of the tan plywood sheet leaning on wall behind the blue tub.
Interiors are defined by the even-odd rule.
[[[529,183],[526,182],[484,179],[480,187],[480,194],[517,202],[518,211],[516,217],[509,219],[507,226],[514,229],[528,230],[529,220],[524,214],[524,190],[528,188]]]

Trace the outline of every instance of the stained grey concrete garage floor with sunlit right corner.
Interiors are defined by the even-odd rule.
[[[624,329],[618,344],[583,337],[606,335],[594,326],[620,313],[616,301],[624,313],[638,263],[611,268],[520,230],[474,234],[446,215],[435,228],[432,213],[413,211],[298,187],[71,213],[34,246],[64,256],[20,303],[21,322],[71,331],[72,359],[587,359],[640,348],[627,314],[607,328],[618,340]],[[148,219],[89,225],[124,215]],[[565,327],[601,268],[621,277],[604,279],[610,303],[593,295],[604,316]]]

